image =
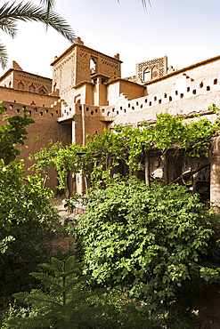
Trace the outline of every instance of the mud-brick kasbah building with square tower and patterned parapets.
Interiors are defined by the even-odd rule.
[[[35,124],[28,128],[29,138],[20,156],[26,158],[46,145],[61,140],[64,145],[76,141],[85,144],[86,134],[93,136],[110,131],[112,124],[138,126],[153,123],[156,114],[167,111],[182,113],[191,119],[193,113],[216,116],[208,109],[220,108],[220,56],[175,70],[167,67],[167,56],[136,64],[135,76],[121,77],[119,55],[113,57],[87,47],[77,37],[53,63],[53,79],[24,72],[16,63],[0,77],[0,98],[9,116],[26,108]],[[40,141],[36,141],[36,137]],[[213,143],[211,164],[197,174],[194,189],[204,201],[220,201],[219,137]],[[167,165],[167,180],[174,165],[183,173],[197,168],[204,159]],[[151,174],[161,174],[158,159],[151,158]],[[69,181],[69,184],[73,182]],[[55,189],[55,175],[50,186]],[[78,192],[82,180],[74,183]],[[75,189],[75,188],[74,188]]]

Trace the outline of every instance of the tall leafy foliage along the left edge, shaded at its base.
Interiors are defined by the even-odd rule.
[[[42,188],[42,178],[25,175],[17,143],[27,138],[25,129],[33,120],[24,116],[5,118],[0,127],[0,289],[2,301],[23,286],[29,289],[29,271],[47,261],[48,241],[62,229],[58,214],[49,205],[50,189]],[[36,283],[35,283],[36,284]]]

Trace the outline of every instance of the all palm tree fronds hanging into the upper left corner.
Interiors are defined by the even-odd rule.
[[[76,36],[69,23],[62,18],[57,12],[53,11],[55,4],[54,0],[40,0],[43,5],[36,4],[9,4],[6,2],[0,7],[0,28],[8,35],[14,38],[17,34],[17,21],[40,21],[46,25],[46,28],[52,27],[57,32],[74,43]],[[8,55],[4,44],[0,44],[0,65],[6,68]]]

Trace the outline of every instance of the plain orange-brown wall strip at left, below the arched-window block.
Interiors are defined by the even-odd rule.
[[[55,101],[59,100],[59,97],[44,95],[37,92],[20,91],[0,86],[0,100],[27,105],[34,102],[36,106],[51,107]]]

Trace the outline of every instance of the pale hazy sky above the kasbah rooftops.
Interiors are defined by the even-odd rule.
[[[141,0],[56,0],[56,11],[86,46],[119,53],[122,77],[135,74],[135,63],[165,55],[175,69],[220,55],[219,0],[151,0],[145,11]],[[54,56],[70,46],[52,28],[33,22],[20,22],[15,39],[2,31],[0,39],[8,68],[15,60],[24,71],[47,77]]]

